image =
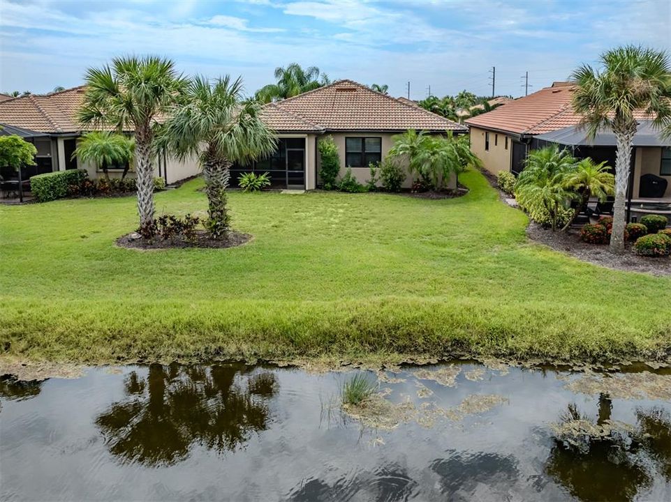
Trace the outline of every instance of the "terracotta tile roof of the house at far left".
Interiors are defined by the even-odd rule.
[[[40,95],[28,94],[0,102],[0,122],[38,132],[81,130],[75,113],[82,102],[84,87]]]

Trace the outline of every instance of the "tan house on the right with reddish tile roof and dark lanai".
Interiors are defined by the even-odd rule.
[[[466,120],[471,150],[492,174],[519,174],[529,151],[553,143],[572,149],[577,158],[591,157],[614,168],[614,135],[601,131],[594,140],[587,139],[586,133],[577,128],[580,115],[573,112],[572,93],[570,82],[554,82]],[[633,141],[629,198],[633,205],[671,204],[671,139],[663,139],[644,112],[637,118],[640,122]]]

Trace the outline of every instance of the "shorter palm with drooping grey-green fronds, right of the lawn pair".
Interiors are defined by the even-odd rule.
[[[274,132],[260,119],[260,104],[243,100],[242,79],[228,75],[214,84],[194,78],[184,102],[172,107],[161,129],[161,142],[177,158],[199,155],[205,177],[208,219],[212,238],[228,231],[226,188],[230,166],[270,155],[276,148]]]

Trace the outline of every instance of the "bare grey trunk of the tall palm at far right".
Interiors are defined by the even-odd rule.
[[[615,158],[615,201],[613,204],[613,229],[610,235],[610,252],[624,253],[624,227],[626,226],[626,199],[631,170],[631,142],[636,133],[629,128],[614,128],[617,141]]]

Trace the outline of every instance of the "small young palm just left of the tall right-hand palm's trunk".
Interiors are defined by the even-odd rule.
[[[596,197],[603,202],[615,193],[615,176],[610,172],[610,166],[607,162],[595,164],[589,157],[580,160],[575,169],[566,174],[563,184],[564,188],[577,192],[579,196],[575,215],[566,227],[587,208],[590,197]]]

